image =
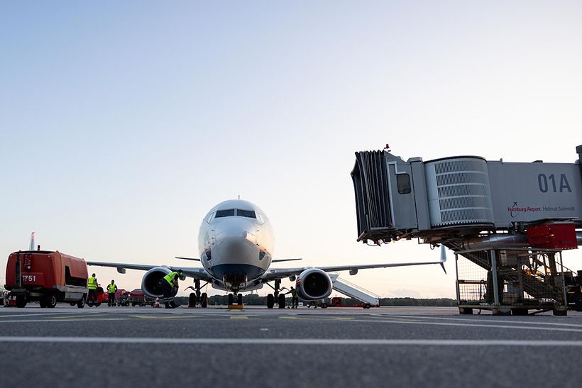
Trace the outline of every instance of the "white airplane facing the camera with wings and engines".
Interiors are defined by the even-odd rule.
[[[442,247],[441,247],[442,249]],[[197,300],[206,300],[207,294],[200,289],[211,284],[214,289],[229,292],[229,304],[243,303],[241,292],[263,288],[268,284],[273,294],[267,296],[267,307],[273,309],[275,301],[285,305],[285,295],[280,294],[281,280],[288,277],[295,281],[295,289],[300,298],[306,301],[324,299],[333,289],[327,272],[350,271],[356,275],[358,270],[408,265],[439,264],[444,270],[446,255],[441,250],[441,260],[437,262],[403,262],[370,265],[333,265],[323,267],[270,268],[273,262],[301,259],[274,259],[273,228],[261,209],[242,199],[231,199],[214,206],[202,220],[198,233],[199,257],[176,257],[196,260],[202,267],[182,267],[176,265],[145,265],[119,262],[87,262],[87,265],[115,267],[121,274],[126,270],[144,270],[141,282],[143,293],[156,297],[162,294],[158,281],[174,270],[182,270],[185,277],[194,279]],[[445,271],[446,273],[446,271]],[[206,282],[200,285],[200,282]],[[269,284],[274,283],[274,286]],[[190,287],[193,288],[194,287]],[[174,295],[177,294],[174,288]],[[206,306],[205,303],[202,306]]]

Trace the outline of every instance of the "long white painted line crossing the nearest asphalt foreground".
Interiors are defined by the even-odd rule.
[[[136,343],[176,345],[405,345],[405,346],[564,346],[582,347],[582,340],[395,340],[321,338],[116,338],[0,337],[0,343]]]

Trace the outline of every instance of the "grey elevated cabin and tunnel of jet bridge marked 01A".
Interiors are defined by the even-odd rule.
[[[451,238],[547,221],[581,228],[582,145],[576,151],[575,163],[358,152],[351,172],[358,240]]]

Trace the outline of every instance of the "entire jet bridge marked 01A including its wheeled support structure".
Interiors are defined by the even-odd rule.
[[[582,145],[576,153],[549,163],[358,152],[358,241],[418,238],[453,250],[461,314],[565,314],[571,271],[561,252],[582,245]]]

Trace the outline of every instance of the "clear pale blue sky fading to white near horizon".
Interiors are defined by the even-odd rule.
[[[3,1],[0,282],[32,231],[86,260],[190,266],[173,257],[197,255],[202,218],[238,196],[270,218],[278,258],[438,260],[356,242],[354,152],[574,162],[581,69],[580,1]],[[341,277],[454,297],[448,257],[448,275]],[[143,275],[93,270],[126,289]]]

